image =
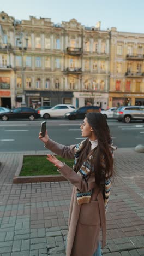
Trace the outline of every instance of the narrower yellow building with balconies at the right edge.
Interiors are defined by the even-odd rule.
[[[111,28],[109,107],[144,105],[144,34]]]

